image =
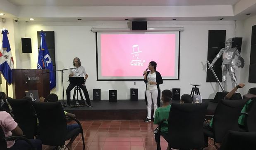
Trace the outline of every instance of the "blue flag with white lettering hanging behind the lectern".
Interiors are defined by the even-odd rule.
[[[45,36],[46,34],[43,31],[40,33],[41,44],[38,54],[37,69],[49,69],[50,71],[50,90],[56,87],[56,80],[53,73],[53,63],[50,58],[50,53],[46,45]]]

